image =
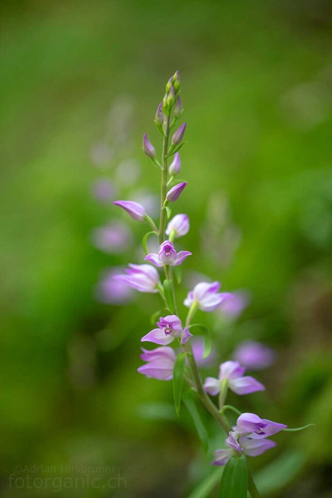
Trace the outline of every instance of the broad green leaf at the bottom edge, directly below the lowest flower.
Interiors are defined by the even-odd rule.
[[[225,465],[220,486],[219,498],[246,498],[248,489],[248,468],[245,456],[232,457]]]

